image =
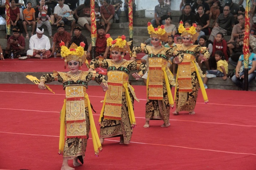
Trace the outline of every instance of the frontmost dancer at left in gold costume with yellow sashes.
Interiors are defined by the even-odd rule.
[[[88,82],[90,80],[101,83],[103,91],[106,91],[108,86],[105,76],[79,70],[86,60],[84,45],[85,44],[82,42],[80,46],[77,47],[73,43],[70,49],[68,49],[64,42],[60,43],[61,55],[65,58],[65,66],[68,64],[70,71],[45,74],[40,78],[38,85],[39,89],[45,89],[44,83],[59,81],[63,83],[63,88],[66,92],[66,99],[64,100],[60,116],[59,154],[63,154],[61,170],[74,170],[74,168],[68,165],[69,159],[73,159],[74,166],[79,166],[84,163],[90,129],[95,154],[98,155],[98,149],[101,150],[101,144],[94,124],[91,104],[86,89],[88,88]],[[64,141],[65,124],[66,141]],[[78,159],[81,164],[78,162]]]

